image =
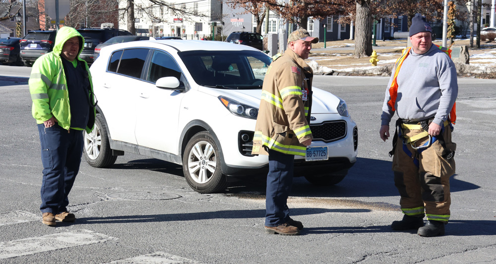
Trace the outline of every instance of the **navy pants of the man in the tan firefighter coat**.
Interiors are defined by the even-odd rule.
[[[293,184],[295,155],[269,150],[269,173],[265,195],[265,226],[289,221],[288,196]]]

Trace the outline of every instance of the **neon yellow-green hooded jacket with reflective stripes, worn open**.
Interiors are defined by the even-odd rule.
[[[38,124],[42,124],[54,116],[63,129],[69,129],[70,127],[70,102],[61,52],[64,43],[72,37],[80,38],[79,53],[76,59],[84,64],[88,72],[91,89],[88,96],[90,102],[94,104],[91,73],[86,61],[79,58],[79,54],[83,50],[84,38],[74,28],[62,27],[55,38],[54,50],[36,59],[29,77],[29,92],[33,100],[32,114]],[[91,107],[90,117],[85,129],[88,133],[93,130],[94,123],[95,108]]]

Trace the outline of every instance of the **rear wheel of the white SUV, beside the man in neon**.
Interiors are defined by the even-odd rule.
[[[83,153],[92,167],[106,168],[116,162],[117,156],[112,155],[107,127],[100,114],[96,115],[93,131],[89,134],[84,132]]]

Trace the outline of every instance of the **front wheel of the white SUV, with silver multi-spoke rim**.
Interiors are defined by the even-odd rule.
[[[198,132],[187,143],[183,154],[183,172],[187,184],[198,193],[215,193],[227,187],[222,174],[222,157],[213,137]]]

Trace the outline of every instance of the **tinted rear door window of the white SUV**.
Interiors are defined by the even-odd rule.
[[[117,73],[134,78],[141,77],[141,71],[143,70],[147,55],[147,49],[124,50]]]

